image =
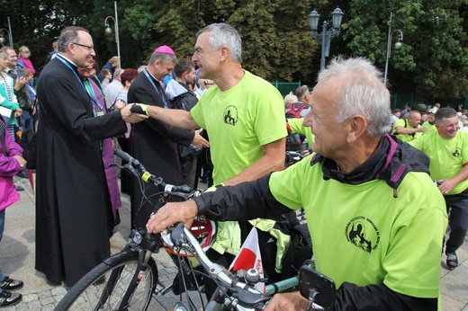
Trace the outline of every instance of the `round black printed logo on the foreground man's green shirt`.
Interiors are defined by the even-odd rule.
[[[364,216],[356,216],[347,223],[347,242],[356,245],[366,253],[379,246],[380,232],[374,222]]]

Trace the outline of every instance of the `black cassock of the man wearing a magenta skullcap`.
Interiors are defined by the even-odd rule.
[[[146,72],[140,72],[130,85],[128,102],[141,102],[148,105],[171,109],[171,103],[166,97],[164,89],[159,82]],[[151,79],[151,80],[149,80]],[[147,119],[135,125],[130,135],[130,153],[143,164],[148,172],[162,177],[166,183],[182,184],[182,169],[179,159],[177,143],[190,146],[194,131],[174,128],[165,122]],[[156,187],[148,187],[146,195],[157,192]],[[137,227],[145,227],[151,213],[152,204],[157,197],[153,197],[143,208],[139,209],[141,191],[139,183],[132,178],[131,190],[131,221],[132,226],[136,220]]]

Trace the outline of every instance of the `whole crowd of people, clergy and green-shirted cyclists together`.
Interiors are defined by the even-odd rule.
[[[382,73],[365,58],[335,58],[313,91],[302,85],[283,99],[242,67],[241,38],[226,23],[197,32],[192,59],[164,45],[138,70],[112,57],[99,72],[89,31],[67,27],[37,93],[23,48],[20,58],[0,51],[0,103],[11,110],[0,118],[0,233],[4,209],[19,200],[13,176],[26,164],[14,127],[35,129],[38,120],[35,268],[50,283],[70,288],[110,255],[127,191],[132,227],[158,233],[197,214],[218,220],[207,255],[226,267],[256,224],[269,281],[279,280],[290,243],[284,218],[303,208],[316,268],[334,280],[338,309],[437,309],[441,252],[455,269],[468,227],[463,113],[391,113]],[[23,76],[14,76],[20,66]],[[134,104],[145,113],[130,111]],[[285,111],[301,105],[286,122]],[[311,155],[284,170],[288,131],[307,138]],[[115,146],[167,183],[196,188],[199,177],[206,181],[201,171],[211,171],[215,187],[150,218],[138,181],[122,173],[118,188],[109,168]],[[21,287],[0,272],[0,307],[18,303],[21,294],[10,290]],[[205,282],[208,298],[215,289]],[[294,292],[275,295],[266,310],[307,306]]]

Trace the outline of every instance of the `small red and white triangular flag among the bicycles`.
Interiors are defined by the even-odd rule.
[[[256,227],[250,230],[246,241],[242,244],[236,258],[234,258],[234,261],[229,266],[229,270],[232,271],[238,271],[240,269],[245,271],[256,269],[260,274],[260,278],[264,277],[262,254],[260,253],[260,246],[258,245]],[[262,293],[266,292],[265,283],[263,282],[258,282],[255,288]]]

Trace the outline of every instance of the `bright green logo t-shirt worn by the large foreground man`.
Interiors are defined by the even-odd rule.
[[[312,156],[312,155],[311,155]],[[438,298],[446,204],[427,173],[408,173],[398,196],[381,180],[324,180],[311,156],[271,175],[275,199],[305,209],[317,270],[335,281]]]

